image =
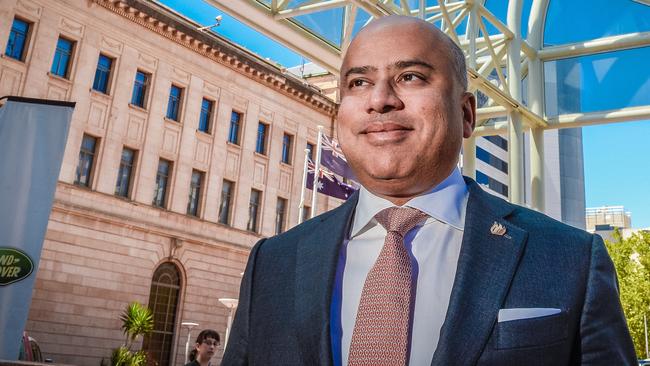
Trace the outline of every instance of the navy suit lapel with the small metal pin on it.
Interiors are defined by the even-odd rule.
[[[467,181],[465,231],[440,341],[431,364],[474,365],[490,336],[526,243],[527,232],[504,219],[514,206]],[[502,224],[503,235],[491,233]]]

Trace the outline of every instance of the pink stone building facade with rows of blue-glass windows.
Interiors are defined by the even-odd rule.
[[[0,95],[76,102],[26,326],[57,363],[108,361],[138,301],[144,348],[184,364],[181,323],[223,340],[251,246],[298,222],[336,104],[198,26],[149,0],[0,0]]]

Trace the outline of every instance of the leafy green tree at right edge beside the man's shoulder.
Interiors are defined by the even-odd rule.
[[[614,240],[605,241],[605,245],[616,266],[621,304],[636,354],[645,358],[643,317],[650,322],[650,233],[639,232],[623,239],[616,231]]]

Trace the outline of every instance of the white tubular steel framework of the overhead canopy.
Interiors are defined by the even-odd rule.
[[[302,54],[314,63],[338,75],[352,36],[358,9],[371,19],[391,14],[409,15],[429,22],[440,22],[441,29],[466,53],[471,91],[481,91],[489,103],[478,109],[474,136],[463,145],[463,172],[475,176],[477,136],[508,134],[510,160],[510,201],[524,202],[524,184],[530,184],[531,206],[544,211],[544,131],[595,124],[607,124],[650,119],[650,105],[613,111],[565,114],[554,118],[544,116],[544,61],[610,52],[650,45],[650,32],[623,34],[612,37],[543,47],[544,23],[549,0],[533,0],[528,39],[521,37],[523,0],[508,3],[507,24],[503,24],[484,6],[484,0],[439,0],[439,5],[426,6],[426,0],[416,0],[416,7],[402,0],[310,0],[289,7],[289,0],[206,0],[238,18],[248,26]],[[646,3],[647,0],[639,0]],[[413,1],[410,1],[413,3]],[[647,3],[650,5],[650,2]],[[344,8],[341,46],[311,32],[292,17],[319,11]],[[467,19],[464,35],[456,28]],[[487,24],[499,33],[489,35]],[[503,71],[505,68],[505,72]],[[491,77],[496,75],[496,78]],[[522,103],[521,80],[528,76],[528,106]],[[509,83],[509,80],[517,80]],[[507,116],[507,121],[492,118]],[[530,133],[530,182],[524,182],[524,133]]]

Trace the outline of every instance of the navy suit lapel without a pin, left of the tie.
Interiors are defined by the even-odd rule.
[[[298,349],[305,365],[331,365],[330,304],[339,249],[356,207],[355,193],[340,207],[305,226],[296,249],[295,319]]]

